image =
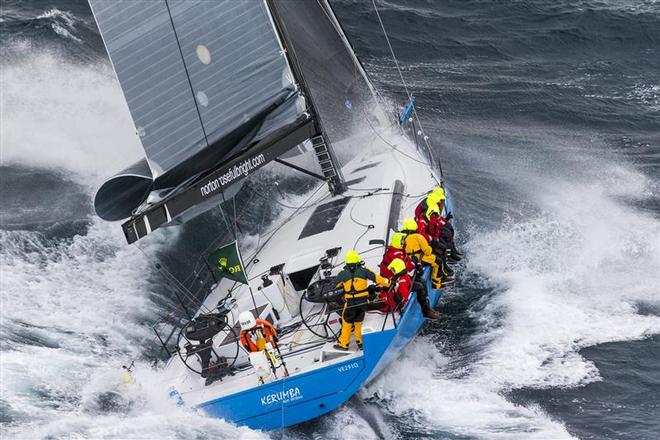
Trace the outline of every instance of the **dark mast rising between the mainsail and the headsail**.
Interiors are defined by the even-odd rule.
[[[314,154],[316,155],[316,159],[319,163],[319,166],[321,167],[321,172],[328,182],[330,192],[333,195],[341,194],[346,191],[344,175],[341,172],[339,161],[337,160],[337,156],[334,152],[334,149],[332,148],[330,139],[325,132],[325,129],[323,128],[321,115],[314,105],[314,99],[312,98],[312,93],[310,92],[310,89],[305,81],[305,76],[303,75],[302,69],[298,64],[295,49],[291,39],[289,38],[289,35],[286,31],[286,27],[279,17],[277,8],[274,7],[274,1],[275,0],[265,0],[268,10],[270,11],[270,15],[273,19],[275,30],[280,37],[282,45],[284,46],[284,53],[289,61],[293,75],[298,81],[298,85],[302,90],[305,99],[307,100],[308,108],[314,115],[314,127],[317,132],[316,136],[311,138]]]

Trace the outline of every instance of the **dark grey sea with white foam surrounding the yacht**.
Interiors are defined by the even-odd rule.
[[[95,188],[141,149],[89,8],[3,1],[3,438],[660,438],[660,3],[377,3],[467,258],[444,319],[382,377],[268,434],[162,399],[147,324],[176,304],[154,262],[193,286],[219,220],[138,248],[94,216]],[[403,102],[371,3],[333,4]],[[237,214],[243,232],[277,209]],[[141,387],[121,383],[130,359]]]

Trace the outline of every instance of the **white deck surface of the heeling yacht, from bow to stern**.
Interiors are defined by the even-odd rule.
[[[274,318],[278,315],[279,320],[275,319],[276,324],[287,326],[300,321],[299,304],[304,290],[294,288],[288,275],[318,266],[319,259],[326,254],[326,250],[341,247],[337,257],[331,259],[335,266],[333,275],[343,266],[343,257],[350,249],[357,250],[366,266],[377,271],[384,247],[382,244],[369,244],[369,242],[386,240],[389,235],[389,224],[393,222],[395,227],[398,227],[404,217],[412,216],[415,206],[439,182],[438,176],[431,171],[426,159],[417,151],[415,145],[400,134],[400,131],[396,130],[395,133],[388,136],[388,142],[391,143],[385,143],[380,136],[374,134],[371,136],[370,144],[362,148],[362,151],[342,167],[347,182],[363,178],[359,183],[350,185],[348,191],[338,196],[330,195],[325,188],[321,190],[317,188],[307,196],[303,208],[294,211],[293,214],[287,212],[286,217],[283,216],[273,222],[272,232],[260,237],[260,243],[265,245],[256,255],[252,252],[250,259],[247,260],[247,255],[244,254],[246,274],[250,282],[249,289],[244,285],[235,286],[233,282],[223,279],[206,298],[200,310],[213,310],[218,301],[233,288],[232,296],[236,298],[237,303],[229,315],[230,325],[234,325],[241,311],[254,310],[253,304],[256,303],[257,308],[265,306],[263,312],[259,314],[260,317]],[[359,146],[355,145],[355,148]],[[391,214],[396,181],[400,182],[399,188],[401,184],[403,185],[401,191],[403,195],[400,199],[400,209],[396,209]],[[322,185],[325,186],[325,183]],[[331,230],[299,238],[318,206],[326,206],[335,201],[341,203],[340,200],[347,203]],[[327,218],[324,215],[319,216],[317,212],[315,218],[319,217]],[[270,276],[273,285],[268,289],[263,288],[261,277],[268,275],[272,267],[282,264],[284,275]],[[314,279],[318,279],[318,276],[317,273]],[[310,307],[318,306],[310,305]],[[335,330],[339,329],[339,321],[340,317],[337,315],[333,324]],[[382,313],[367,313],[363,332],[393,328],[391,319],[384,321],[386,315]],[[356,350],[336,353],[332,350],[332,342],[314,345],[314,341],[319,341],[319,338],[303,325],[280,339],[279,346],[282,354],[286,356],[291,375],[325,367],[333,362],[345,361],[351,356],[359,356]],[[231,349],[227,346],[223,348],[220,346],[221,342],[214,340],[214,349],[220,355],[224,355],[223,350],[225,350],[227,357],[233,356],[236,351],[235,345],[232,345]],[[311,348],[304,350],[306,346]],[[183,347],[181,349],[183,350]],[[287,353],[291,354],[287,356]],[[242,348],[239,349],[236,366],[242,368],[239,368],[235,376],[228,376],[222,381],[205,385],[205,379],[190,371],[175,354],[166,366],[163,385],[165,389],[174,387],[188,406],[199,405],[257,386],[256,376],[249,368],[247,354]]]

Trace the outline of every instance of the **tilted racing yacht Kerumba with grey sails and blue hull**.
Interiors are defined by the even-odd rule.
[[[443,184],[413,97],[387,116],[327,0],[89,3],[145,151],[95,198],[101,218],[123,220],[129,244],[230,200],[270,162],[319,180],[249,261],[236,242],[205,256],[210,293],[170,332],[173,348],[159,335],[170,354],[163,394],[264,430],[339,407],[424,323],[413,292],[401,310],[366,313],[362,348],[334,347],[346,252],[377,267],[402,218]],[[352,159],[340,165],[337,149]],[[320,173],[291,162],[301,154]],[[422,279],[436,304],[442,290],[428,269]],[[241,343],[246,311],[277,329],[259,355]]]

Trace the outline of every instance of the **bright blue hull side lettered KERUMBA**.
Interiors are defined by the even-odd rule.
[[[435,305],[442,290],[433,289],[429,278],[427,269],[424,279],[429,300]],[[363,335],[361,357],[212,400],[197,408],[209,416],[261,430],[314,419],[336,409],[377,377],[419,333],[424,320],[413,293],[396,328]]]

